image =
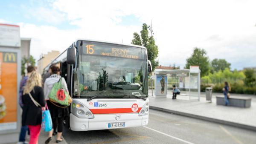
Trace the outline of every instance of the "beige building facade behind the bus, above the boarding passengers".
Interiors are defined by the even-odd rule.
[[[42,54],[40,59],[38,60],[38,72],[43,74],[44,68],[49,64],[54,58],[56,58],[60,54],[59,51],[51,51],[47,54]]]

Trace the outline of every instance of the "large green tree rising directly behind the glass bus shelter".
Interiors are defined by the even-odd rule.
[[[209,58],[206,55],[204,49],[194,48],[194,52],[190,58],[186,59],[186,69],[189,69],[190,66],[199,66],[201,70],[201,77],[207,75],[210,70]]]

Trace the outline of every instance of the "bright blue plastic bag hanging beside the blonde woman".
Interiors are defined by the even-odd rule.
[[[50,111],[47,107],[47,104],[45,105],[45,110],[42,112],[42,124],[41,127],[45,132],[49,132],[52,130],[52,118]]]

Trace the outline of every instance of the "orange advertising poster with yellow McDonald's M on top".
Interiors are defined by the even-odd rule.
[[[17,129],[17,53],[0,52],[0,131]]]

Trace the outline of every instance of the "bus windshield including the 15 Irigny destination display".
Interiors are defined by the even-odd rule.
[[[77,61],[74,97],[148,95],[147,56],[143,48],[82,41]]]

